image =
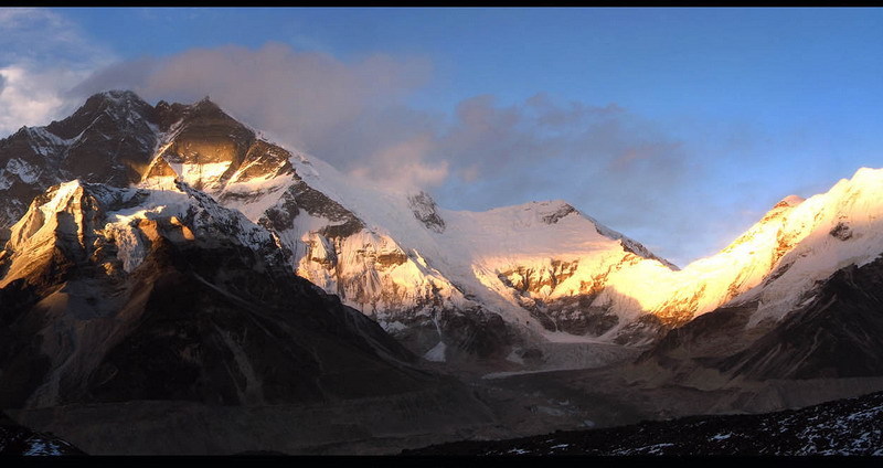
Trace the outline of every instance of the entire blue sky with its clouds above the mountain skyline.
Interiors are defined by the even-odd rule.
[[[451,209],[564,199],[679,265],[883,166],[881,9],[13,13],[2,132],[108,86],[211,94],[354,177]]]

